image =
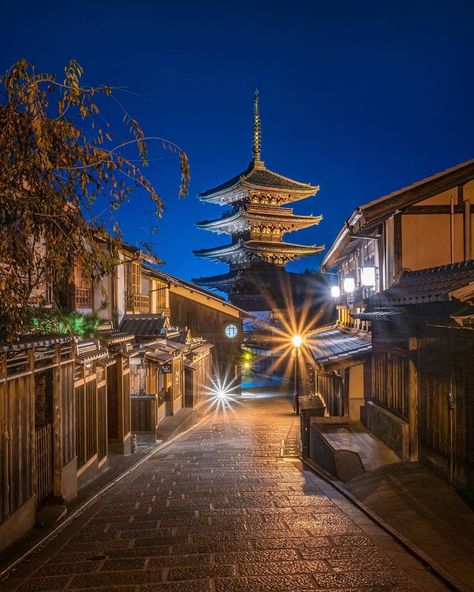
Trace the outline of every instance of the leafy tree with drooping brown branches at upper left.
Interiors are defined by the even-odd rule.
[[[117,265],[114,214],[132,191],[145,190],[161,215],[163,201],[143,172],[149,140],[179,157],[180,196],[187,193],[186,154],[146,137],[116,89],[83,86],[82,75],[74,60],[63,80],[21,60],[0,79],[0,341],[26,327],[40,288],[68,278],[75,263],[95,276]],[[122,110],[119,130],[99,108],[111,102]]]

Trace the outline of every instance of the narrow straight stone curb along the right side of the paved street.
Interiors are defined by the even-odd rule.
[[[444,584],[446,584],[451,590],[456,592],[472,592],[471,588],[467,587],[463,582],[453,576],[447,569],[445,569],[436,559],[428,555],[425,551],[420,549],[417,545],[412,543],[405,535],[399,532],[396,528],[385,522],[378,514],[361,502],[355,497],[350,491],[348,491],[340,481],[333,480],[328,473],[323,471],[318,465],[313,462],[310,458],[302,457],[302,463],[311,469],[316,475],[328,483],[331,487],[341,493],[346,499],[357,508],[373,520],[381,529],[385,530],[393,538],[395,538],[411,555],[416,557],[425,567],[427,567],[432,573],[434,573]]]

